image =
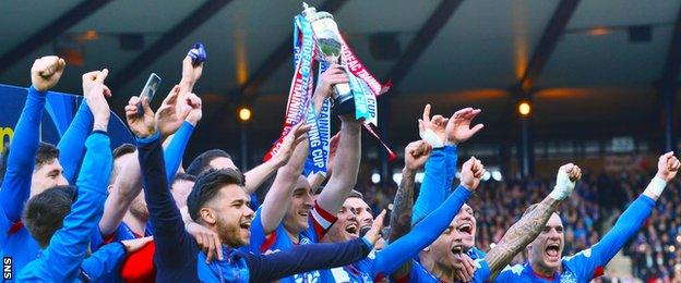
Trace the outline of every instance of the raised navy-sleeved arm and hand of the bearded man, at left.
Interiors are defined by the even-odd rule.
[[[126,107],[126,119],[138,138],[144,197],[156,235],[154,260],[157,264],[167,268],[179,268],[193,256],[193,239],[184,231],[182,216],[168,188],[160,146],[160,131],[156,130],[154,112],[148,106],[148,100],[144,99],[142,101],[144,114],[139,116],[138,101],[138,97],[131,98]]]

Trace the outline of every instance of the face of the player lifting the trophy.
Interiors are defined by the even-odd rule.
[[[294,233],[300,233],[308,229],[308,218],[314,205],[310,196],[310,184],[303,176],[298,177],[291,204],[284,217],[284,226]]]

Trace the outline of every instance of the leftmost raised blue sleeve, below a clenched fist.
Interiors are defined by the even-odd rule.
[[[45,109],[46,94],[33,86],[28,88],[24,110],[14,127],[7,172],[0,189],[0,207],[4,210],[7,219],[2,218],[0,221],[19,221],[24,202],[31,195],[31,177],[35,167],[35,153],[38,150],[38,128]],[[5,232],[2,231],[2,233]]]

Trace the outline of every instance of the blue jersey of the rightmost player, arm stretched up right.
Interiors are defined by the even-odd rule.
[[[655,200],[647,196],[640,196],[620,216],[614,226],[608,231],[602,239],[588,249],[574,256],[563,257],[562,272],[555,272],[551,278],[537,275],[531,266],[515,264],[506,267],[497,276],[498,282],[588,282],[604,274],[604,268],[612,257],[641,229],[646,218],[650,216]]]

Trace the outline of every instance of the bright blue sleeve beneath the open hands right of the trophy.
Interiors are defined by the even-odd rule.
[[[411,213],[411,224],[419,222],[444,201],[449,187],[446,183],[446,162],[443,148],[433,149],[428,161],[426,161],[426,174],[421,189]]]

